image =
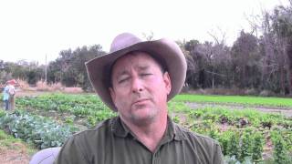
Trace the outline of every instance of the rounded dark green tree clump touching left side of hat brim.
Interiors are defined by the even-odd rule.
[[[74,51],[71,49],[62,50],[57,60],[48,66],[48,81],[61,82],[67,87],[78,86],[84,90],[91,90],[85,62],[104,54],[105,52],[99,45],[82,46]]]

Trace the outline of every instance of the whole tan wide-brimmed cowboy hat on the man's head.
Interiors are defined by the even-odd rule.
[[[132,51],[146,52],[165,65],[172,82],[167,100],[181,91],[186,75],[186,61],[181,48],[170,39],[141,41],[137,36],[123,33],[114,38],[109,54],[93,58],[85,64],[91,85],[109,108],[117,111],[109,90],[111,67],[119,57]]]

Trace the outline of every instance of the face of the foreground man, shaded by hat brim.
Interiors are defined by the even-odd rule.
[[[110,96],[124,121],[144,124],[167,114],[171,80],[148,54],[122,56],[112,67],[111,79]]]

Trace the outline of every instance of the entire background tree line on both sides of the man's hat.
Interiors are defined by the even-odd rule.
[[[257,17],[251,32],[242,30],[232,46],[214,42],[177,41],[187,59],[187,88],[242,88],[292,94],[292,2]],[[258,35],[260,34],[260,35]],[[145,36],[152,39],[152,36]],[[107,52],[100,45],[62,50],[47,66],[47,82],[91,90],[84,63]],[[34,85],[45,79],[45,66],[0,60],[0,79],[21,78]]]

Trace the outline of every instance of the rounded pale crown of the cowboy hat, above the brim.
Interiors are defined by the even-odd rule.
[[[122,33],[119,36],[116,36],[110,45],[110,53],[119,51],[128,46],[140,43],[141,39],[137,36],[134,36],[130,33]]]

